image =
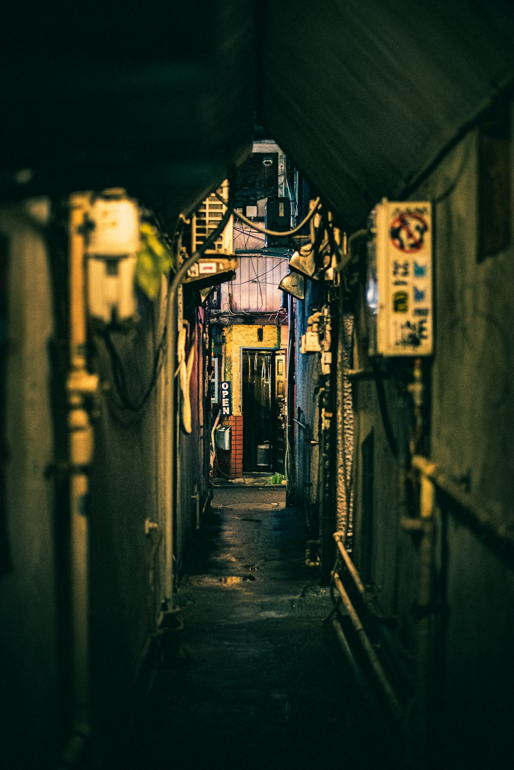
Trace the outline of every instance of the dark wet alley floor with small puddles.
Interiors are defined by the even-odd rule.
[[[131,768],[398,768],[305,567],[284,487],[216,489],[177,596],[182,646],[132,733]]]

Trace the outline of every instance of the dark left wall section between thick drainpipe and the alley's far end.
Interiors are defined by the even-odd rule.
[[[172,543],[175,580],[182,572],[185,550],[195,531],[195,484],[202,494],[201,504],[205,500],[199,392],[204,365],[202,326],[195,331],[193,340],[195,305],[186,293],[184,307],[185,319],[189,320],[185,352],[187,355],[189,346],[195,346],[195,363],[189,387],[190,434],[185,434],[181,417],[177,419],[178,484]],[[140,320],[135,334],[115,336],[134,400],[145,392],[152,379],[165,309],[164,296],[161,303],[149,303],[140,297]],[[108,743],[108,731],[122,728],[118,723],[125,718],[125,711],[120,706],[133,696],[139,668],[166,596],[165,527],[173,511],[172,498],[162,494],[162,489],[170,484],[169,467],[163,457],[169,447],[163,444],[162,437],[171,435],[169,420],[175,417],[169,407],[163,407],[162,390],[169,387],[174,367],[168,353],[159,387],[152,391],[143,410],[131,413],[119,403],[112,380],[112,362],[105,355],[105,346],[97,342],[95,367],[102,380],[110,383],[110,390],[95,427],[92,473],[92,677],[95,715]],[[175,390],[179,403],[178,377]],[[158,524],[149,534],[145,533],[146,519]]]

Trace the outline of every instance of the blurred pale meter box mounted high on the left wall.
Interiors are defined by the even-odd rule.
[[[85,214],[88,310],[104,323],[136,313],[135,265],[140,249],[139,206],[121,188],[92,199]]]

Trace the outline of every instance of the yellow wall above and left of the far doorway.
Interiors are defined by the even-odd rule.
[[[225,374],[223,379],[232,383],[232,414],[241,414],[241,348],[287,348],[288,326],[264,326],[262,340],[257,339],[259,326],[225,327]]]

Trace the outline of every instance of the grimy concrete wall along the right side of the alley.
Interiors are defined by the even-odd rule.
[[[492,507],[500,523],[512,527],[514,249],[511,243],[505,251],[478,259],[483,225],[478,141],[479,132],[469,133],[412,193],[412,199],[434,201],[436,352],[429,377],[432,419],[426,451],[461,479],[476,500]],[[506,204],[512,216],[512,203]],[[409,400],[394,381],[386,381],[385,388],[393,433],[402,446]],[[412,601],[417,550],[399,527],[398,464],[388,447],[375,384],[355,383],[353,390],[359,446],[355,562],[379,588],[384,611],[399,618],[396,648],[416,654]],[[362,442],[371,436],[369,521],[362,497]],[[512,564],[464,526],[448,500],[440,498],[438,504],[434,740],[448,744],[458,766],[486,762],[506,767],[514,684]]]

